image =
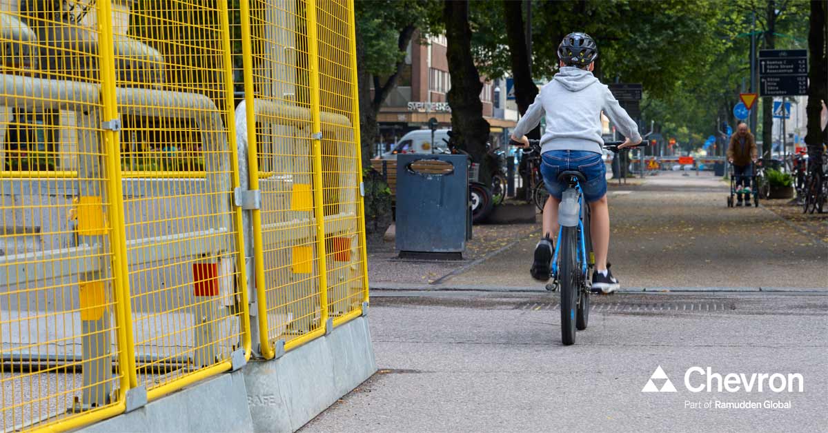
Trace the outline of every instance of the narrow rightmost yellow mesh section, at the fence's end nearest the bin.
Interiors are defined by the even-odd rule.
[[[325,209],[325,264],[332,317],[360,310],[363,284],[363,234],[360,229],[360,151],[355,123],[356,71],[350,38],[353,11],[345,0],[316,0],[319,51],[322,181]]]

